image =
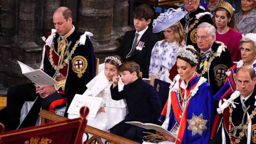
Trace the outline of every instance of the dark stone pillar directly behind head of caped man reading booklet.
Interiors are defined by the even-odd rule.
[[[43,11],[43,35],[54,28],[53,13],[61,6],[61,0],[45,0]]]

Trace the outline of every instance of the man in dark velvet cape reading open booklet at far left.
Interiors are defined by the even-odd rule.
[[[57,85],[39,87],[33,83],[11,87],[7,94],[6,130],[19,125],[21,107],[25,101],[35,101],[31,115],[27,115],[25,126],[35,125],[40,107],[54,112],[67,106],[76,93],[82,94],[86,84],[95,76],[95,53],[87,35],[77,32],[72,25],[72,12],[60,7],[53,13],[52,29],[46,37],[41,68],[59,82]],[[92,34],[91,34],[92,35]],[[2,117],[3,115],[1,115]]]

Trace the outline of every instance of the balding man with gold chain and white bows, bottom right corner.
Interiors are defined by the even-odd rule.
[[[222,115],[221,123],[216,120],[212,131],[213,144],[254,144],[256,143],[256,83],[255,70],[249,66],[237,69],[238,91],[232,93],[229,99],[220,100],[219,115]],[[211,137],[212,137],[211,136]]]

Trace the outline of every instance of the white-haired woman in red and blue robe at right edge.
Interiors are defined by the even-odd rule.
[[[229,93],[237,89],[236,72],[239,67],[251,66],[256,69],[256,34],[248,33],[240,40],[240,52],[242,60],[238,61],[226,72],[227,78],[223,87],[214,95],[214,99],[226,99]]]

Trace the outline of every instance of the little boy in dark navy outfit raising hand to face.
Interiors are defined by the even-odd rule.
[[[114,75],[112,79],[113,85],[110,87],[112,99],[125,99],[128,114],[123,121],[110,129],[110,133],[142,143],[142,132],[146,130],[125,122],[156,123],[162,108],[155,88],[139,77],[139,69],[139,64],[134,61],[124,62],[118,67],[124,83],[123,90],[120,92],[117,86],[120,78]]]

